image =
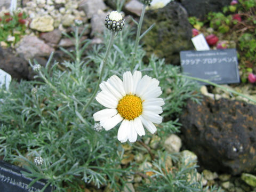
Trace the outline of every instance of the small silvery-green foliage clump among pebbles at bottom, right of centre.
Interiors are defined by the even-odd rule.
[[[169,192],[169,191],[179,191],[179,192],[221,192],[221,188],[215,186],[203,187],[202,177],[199,179],[197,177],[196,165],[194,161],[186,162],[184,158],[179,157],[179,154],[167,154],[160,153],[158,151],[158,158],[153,162],[152,167],[148,167],[145,172],[151,172],[152,175],[148,177],[150,182],[143,182],[143,185],[139,187],[141,192]],[[166,158],[170,156],[172,160],[177,163],[178,159],[180,166],[168,167],[166,165]]]

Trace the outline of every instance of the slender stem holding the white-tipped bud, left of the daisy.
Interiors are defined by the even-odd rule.
[[[98,83],[97,83],[97,85],[95,87],[95,90],[94,90],[90,100],[86,103],[86,105],[82,109],[82,112],[81,112],[82,116],[84,115],[85,110],[87,109],[87,107],[90,106],[92,100],[95,98],[95,95],[97,94],[97,92],[99,90],[99,86],[100,86],[100,83],[101,83],[101,80],[102,80],[102,77],[103,77],[103,73],[104,73],[104,70],[105,70],[105,67],[106,67],[108,55],[110,53],[110,48],[111,48],[111,46],[113,45],[113,42],[114,42],[114,37],[115,37],[115,31],[111,31],[111,35],[110,35],[110,40],[109,40],[109,43],[108,43],[107,51],[106,51],[106,54],[105,54],[105,57],[103,59],[102,66],[101,66],[101,69],[100,69],[100,76],[99,76],[99,79],[98,79]]]

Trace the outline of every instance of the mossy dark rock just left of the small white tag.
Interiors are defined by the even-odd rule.
[[[148,57],[155,54],[172,65],[180,64],[180,51],[193,49],[192,28],[188,14],[180,3],[170,2],[165,7],[145,13],[142,30],[156,25],[142,38]]]

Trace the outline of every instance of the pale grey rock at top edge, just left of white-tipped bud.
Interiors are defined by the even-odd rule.
[[[94,14],[97,14],[99,10],[106,10],[107,6],[103,0],[83,0],[79,4],[80,9],[84,10],[88,19],[91,19]]]

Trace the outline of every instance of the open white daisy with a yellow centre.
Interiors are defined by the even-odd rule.
[[[107,109],[93,114],[94,121],[99,121],[106,130],[112,129],[122,122],[117,134],[121,142],[135,142],[137,135],[145,135],[144,127],[150,132],[156,132],[156,126],[162,122],[159,114],[163,113],[164,100],[158,98],[162,94],[159,81],[147,75],[141,77],[140,71],[132,75],[126,71],[123,81],[116,75],[107,82],[100,84],[101,92],[96,100]],[[144,126],[144,127],[143,127]]]

